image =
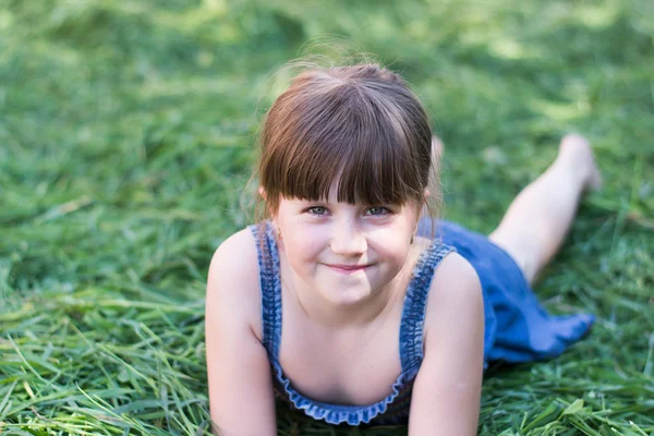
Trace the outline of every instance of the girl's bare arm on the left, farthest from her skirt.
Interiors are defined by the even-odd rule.
[[[252,234],[239,232],[216,251],[206,300],[206,349],[214,434],[276,435],[275,400],[261,343],[261,294]],[[258,335],[257,335],[258,334]]]

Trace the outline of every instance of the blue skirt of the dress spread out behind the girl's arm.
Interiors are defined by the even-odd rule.
[[[429,226],[431,221],[421,221],[419,234],[428,234]],[[485,362],[552,359],[589,331],[593,315],[549,315],[518,264],[486,235],[440,220],[436,239],[453,246],[480,277],[484,294]]]

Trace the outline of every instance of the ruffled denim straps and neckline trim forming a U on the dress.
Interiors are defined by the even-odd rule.
[[[259,229],[252,226],[251,230],[257,241],[261,242]],[[288,377],[283,375],[279,364],[279,344],[281,343],[281,281],[279,280],[279,254],[272,227],[266,222],[265,250],[267,253],[258,256],[259,277],[262,287],[262,316],[264,347],[274,368],[274,374],[286,391],[288,399],[299,410],[304,411],[315,420],[324,420],[328,424],[348,423],[359,425],[370,423],[373,419],[384,414],[389,404],[398,397],[402,389],[411,383],[423,360],[423,325],[425,315],[425,301],[429,292],[434,270],[440,261],[452,247],[434,244],[429,245],[423,253],[413,269],[413,278],[407,289],[402,319],[400,323],[400,359],[402,373],[393,383],[391,390],[385,399],[368,405],[343,405],[312,400],[292,386]]]

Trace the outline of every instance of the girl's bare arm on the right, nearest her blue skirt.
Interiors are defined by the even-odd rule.
[[[409,435],[476,435],[484,305],[475,270],[456,253],[443,261],[432,281],[424,338],[425,354],[413,386]]]

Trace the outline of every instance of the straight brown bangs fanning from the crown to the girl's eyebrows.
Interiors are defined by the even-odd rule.
[[[326,201],[337,183],[338,202],[420,201],[431,166],[428,125],[412,123],[416,113],[376,98],[374,89],[343,85],[331,94],[319,105],[306,101],[298,110],[305,116],[289,120],[295,124],[290,130],[302,134],[278,150],[280,173],[267,191],[276,186],[271,191],[287,198]]]

